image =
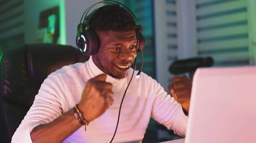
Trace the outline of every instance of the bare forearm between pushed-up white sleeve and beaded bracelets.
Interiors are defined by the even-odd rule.
[[[71,109],[54,121],[35,127],[30,136],[33,143],[61,143],[81,126]]]

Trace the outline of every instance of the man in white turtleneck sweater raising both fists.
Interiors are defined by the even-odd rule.
[[[45,79],[12,143],[109,143],[112,139],[137,56],[136,24],[119,5],[99,8],[88,24],[99,36],[98,53]],[[191,89],[187,78],[174,78],[169,85],[172,98],[142,72],[127,90],[113,143],[140,143],[151,117],[184,136],[190,101],[187,89]]]

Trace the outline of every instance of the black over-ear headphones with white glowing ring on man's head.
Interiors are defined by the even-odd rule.
[[[131,12],[131,10],[129,8],[127,8],[125,5],[123,5],[122,3],[116,2],[114,0],[103,0],[99,3],[108,3],[108,4],[113,4],[114,3],[110,3],[110,2],[115,2],[118,3],[122,6],[124,6],[128,11],[130,11],[130,13],[133,15],[134,19],[137,22],[136,28],[135,28],[135,33],[136,33],[136,38],[137,38],[137,53],[143,50],[144,45],[145,45],[145,38],[143,36],[143,34],[141,33],[142,31],[142,26],[139,24],[137,18],[135,17],[135,15]],[[98,4],[98,3],[96,3]],[[90,21],[90,16],[87,17],[88,12],[90,11],[91,8],[93,8],[93,6],[95,6],[96,4],[90,6],[89,8],[86,9],[87,13],[85,14],[86,11],[84,11],[84,14],[81,17],[81,20],[84,16],[84,21],[83,23],[80,23],[77,26],[77,35],[76,35],[76,46],[79,48],[79,50],[81,50],[81,52],[85,55],[85,56],[91,56],[91,55],[95,55],[98,51],[99,51],[99,46],[100,46],[100,42],[99,42],[99,36],[96,34],[96,32],[93,29],[90,29],[90,27],[88,26],[88,22]],[[85,21],[85,18],[88,18]]]

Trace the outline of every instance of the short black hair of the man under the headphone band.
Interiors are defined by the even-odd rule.
[[[87,23],[94,31],[132,31],[136,28],[134,17],[118,4],[102,6],[89,16],[90,20]]]

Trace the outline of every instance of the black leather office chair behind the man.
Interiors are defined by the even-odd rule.
[[[0,142],[12,135],[32,106],[47,76],[57,69],[89,57],[66,45],[31,44],[6,50],[0,59]]]

